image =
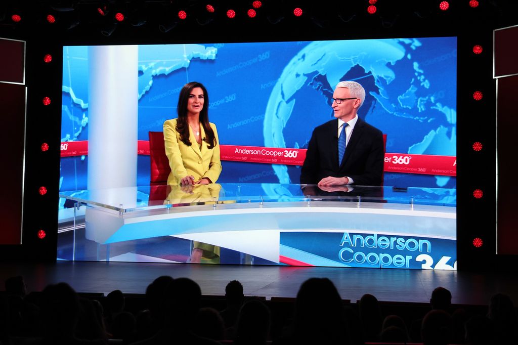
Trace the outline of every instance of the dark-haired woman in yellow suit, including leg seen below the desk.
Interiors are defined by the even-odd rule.
[[[216,126],[209,122],[209,95],[204,85],[190,82],[178,98],[178,118],[164,122],[165,153],[171,173],[168,184],[193,186],[215,183],[221,173]],[[219,263],[220,248],[194,242],[190,262]]]

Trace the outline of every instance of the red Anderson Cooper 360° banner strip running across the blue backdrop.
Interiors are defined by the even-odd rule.
[[[222,161],[302,165],[306,149],[220,145]],[[149,155],[149,141],[138,140],[138,154]],[[88,141],[61,143],[61,156],[88,154]],[[384,171],[406,174],[457,176],[457,157],[430,154],[385,153]]]

